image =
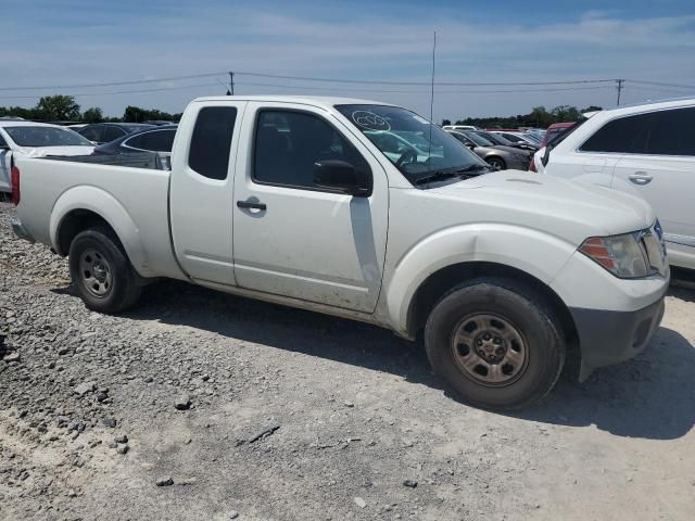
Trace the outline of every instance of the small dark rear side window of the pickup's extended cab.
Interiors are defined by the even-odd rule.
[[[210,179],[226,179],[236,120],[233,106],[201,109],[191,136],[188,166]]]

